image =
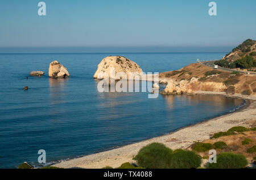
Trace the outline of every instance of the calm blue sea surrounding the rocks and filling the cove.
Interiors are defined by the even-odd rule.
[[[148,93],[98,93],[93,74],[109,55],[125,56],[144,72],[164,72],[225,53],[1,54],[0,168],[16,168],[24,161],[36,165],[39,149],[53,162],[135,143],[225,114],[242,103],[207,95],[148,99]],[[71,76],[26,79],[32,70],[48,74],[53,60]]]

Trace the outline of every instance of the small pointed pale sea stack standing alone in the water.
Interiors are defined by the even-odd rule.
[[[58,61],[52,61],[49,64],[49,77],[52,78],[65,78],[69,77],[67,68],[65,68]]]

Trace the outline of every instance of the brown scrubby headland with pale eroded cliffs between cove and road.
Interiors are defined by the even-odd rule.
[[[171,81],[171,82],[170,82]],[[179,70],[163,72],[159,74],[159,83],[172,83],[175,94],[175,86],[185,83],[181,93],[193,93],[195,91],[225,91],[227,94],[254,95],[256,93],[256,76],[213,70],[200,63],[193,63]],[[166,92],[167,93],[167,92]],[[168,93],[167,93],[168,94]]]

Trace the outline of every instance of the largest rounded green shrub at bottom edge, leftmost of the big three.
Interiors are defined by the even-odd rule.
[[[139,150],[134,159],[143,168],[166,169],[170,167],[171,156],[171,149],[160,143],[152,143]]]

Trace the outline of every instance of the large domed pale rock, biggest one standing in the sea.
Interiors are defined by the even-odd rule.
[[[117,76],[121,74],[121,76]],[[94,74],[94,78],[104,79],[107,76],[115,80],[122,78],[129,79],[129,73],[134,78],[135,76],[142,75],[142,69],[135,62],[123,57],[123,56],[109,56],[105,57]]]

